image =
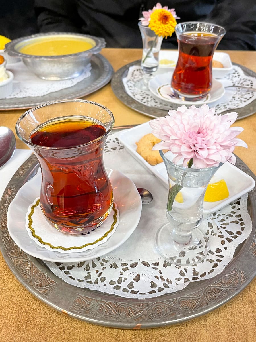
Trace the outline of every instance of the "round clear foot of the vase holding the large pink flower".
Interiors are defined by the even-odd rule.
[[[155,246],[165,260],[179,266],[190,266],[201,262],[207,256],[208,240],[204,239],[199,228],[191,231],[191,238],[185,244],[176,242],[173,233],[173,227],[166,223],[158,229],[155,236]]]

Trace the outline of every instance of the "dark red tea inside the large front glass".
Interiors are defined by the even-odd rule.
[[[30,134],[42,168],[42,211],[63,232],[96,227],[112,208],[112,187],[102,160],[106,138],[92,142],[105,132],[99,121],[76,116],[48,121]]]

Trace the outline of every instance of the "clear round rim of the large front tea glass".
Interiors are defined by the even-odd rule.
[[[91,140],[91,141],[89,141],[89,142],[87,142],[87,143],[85,143],[85,144],[76,145],[76,146],[71,146],[71,147],[49,147],[49,146],[41,146],[41,145],[37,145],[37,144],[31,143],[29,140],[24,139],[24,138],[20,135],[19,129],[18,129],[18,128],[19,128],[19,124],[20,124],[20,122],[22,121],[22,119],[23,119],[26,115],[28,115],[29,113],[31,113],[33,110],[36,110],[36,109],[39,109],[39,108],[42,108],[42,107],[45,107],[45,106],[48,106],[48,105],[53,105],[53,104],[57,104],[57,103],[65,103],[65,102],[82,102],[82,103],[89,103],[89,104],[97,105],[97,106],[99,106],[99,107],[105,109],[105,110],[109,113],[109,115],[110,115],[110,117],[111,117],[111,119],[112,119],[111,126],[108,128],[108,130],[106,130],[106,132],[105,132],[104,134],[102,134],[102,135],[99,136],[98,138],[96,138],[96,139],[94,139],[94,140]],[[72,116],[72,115],[71,115],[71,116]],[[75,116],[75,115],[73,115],[73,116]],[[63,116],[63,117],[64,117],[64,116]],[[59,118],[60,118],[60,117],[59,117]],[[57,101],[48,101],[48,102],[44,102],[44,103],[42,103],[42,104],[40,104],[40,105],[38,105],[38,106],[35,106],[35,107],[30,108],[29,110],[25,111],[25,113],[22,114],[22,115],[18,118],[18,120],[17,120],[17,122],[16,122],[15,130],[16,130],[16,134],[17,134],[17,136],[19,137],[19,139],[20,139],[21,141],[23,141],[25,144],[29,145],[29,146],[32,146],[32,147],[35,147],[35,148],[42,148],[42,149],[46,149],[46,150],[65,150],[65,149],[72,149],[72,148],[77,148],[77,147],[82,147],[82,146],[90,145],[90,144],[92,144],[92,143],[95,143],[95,142],[98,141],[98,140],[101,140],[103,137],[105,137],[106,135],[109,134],[109,132],[111,131],[111,129],[112,129],[113,126],[114,126],[114,123],[115,123],[115,118],[114,118],[114,116],[113,116],[112,111],[111,111],[110,109],[108,109],[107,107],[101,105],[101,104],[98,103],[98,102],[88,101],[88,100],[82,100],[82,99],[64,99],[64,100],[57,100]],[[38,125],[38,126],[39,126],[39,125]],[[30,132],[30,133],[31,133],[31,132]]]

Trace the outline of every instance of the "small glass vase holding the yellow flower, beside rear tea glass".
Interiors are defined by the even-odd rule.
[[[139,88],[148,89],[148,82],[158,69],[159,51],[163,37],[157,36],[150,27],[142,26],[141,22],[138,25],[142,38],[141,68],[143,71],[143,78],[139,83]]]

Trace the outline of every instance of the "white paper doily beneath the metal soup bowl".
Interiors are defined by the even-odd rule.
[[[49,81],[43,80],[35,76],[23,62],[13,63],[8,65],[8,70],[12,71],[14,75],[13,79],[13,92],[11,95],[5,98],[21,98],[21,97],[39,97],[44,96],[55,91],[69,88],[74,86],[76,83],[91,75],[91,65],[88,64],[85,72],[77,77],[60,80],[60,81]]]

